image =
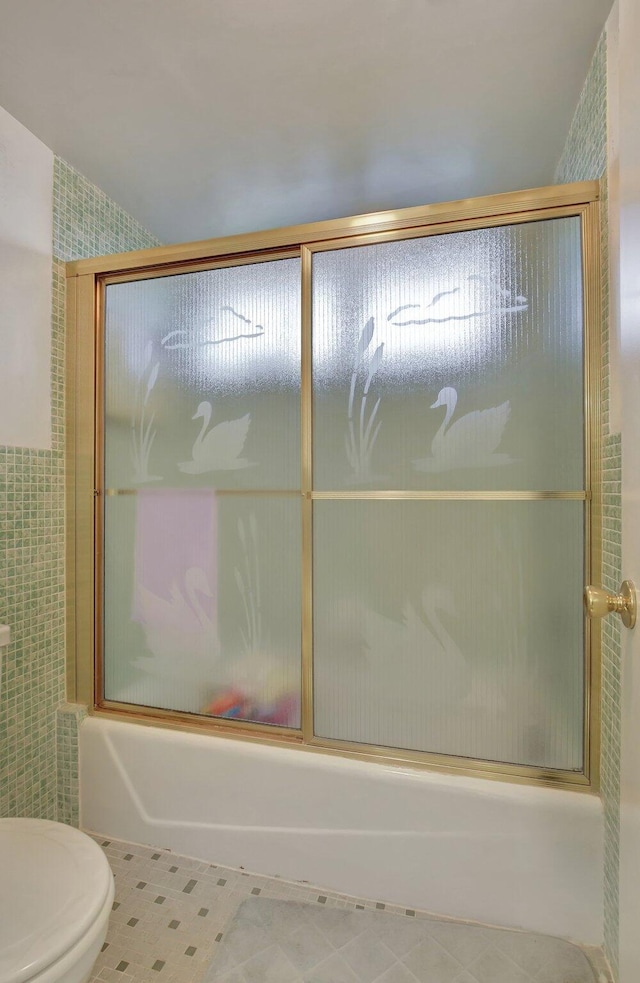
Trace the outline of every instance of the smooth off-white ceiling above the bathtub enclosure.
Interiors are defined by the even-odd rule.
[[[0,105],[164,242],[549,184],[612,0],[0,0]]]

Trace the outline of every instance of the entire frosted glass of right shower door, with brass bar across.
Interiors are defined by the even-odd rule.
[[[311,268],[315,734],[581,770],[579,220]]]

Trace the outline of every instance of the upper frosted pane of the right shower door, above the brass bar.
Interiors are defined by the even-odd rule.
[[[583,487],[580,220],[316,253],[320,489]]]

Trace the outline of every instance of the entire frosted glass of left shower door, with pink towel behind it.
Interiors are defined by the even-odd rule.
[[[299,283],[106,288],[108,700],[300,726]]]

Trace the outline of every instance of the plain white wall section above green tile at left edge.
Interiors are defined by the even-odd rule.
[[[51,447],[53,153],[0,108],[0,445]]]

